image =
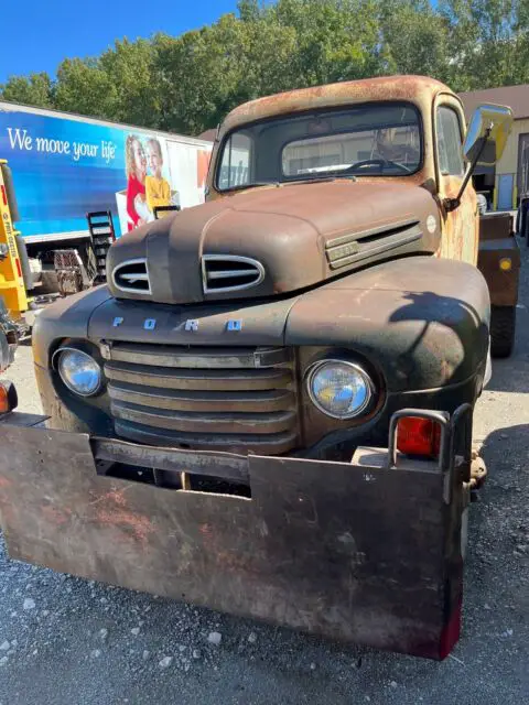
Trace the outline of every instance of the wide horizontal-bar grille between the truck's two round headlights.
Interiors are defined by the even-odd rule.
[[[158,446],[280,455],[298,445],[290,348],[101,346],[116,433]]]

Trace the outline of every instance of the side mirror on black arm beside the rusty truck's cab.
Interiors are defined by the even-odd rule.
[[[484,105],[474,110],[463,152],[473,169],[493,166],[501,159],[512,127],[512,110],[506,106]]]

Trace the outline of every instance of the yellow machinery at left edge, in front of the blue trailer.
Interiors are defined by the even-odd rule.
[[[24,282],[24,262],[18,245],[13,220],[18,218],[11,172],[0,160],[0,297],[10,317],[19,323],[30,303]]]

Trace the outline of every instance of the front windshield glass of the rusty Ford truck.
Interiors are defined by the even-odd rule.
[[[402,176],[418,171],[418,110],[384,102],[290,115],[234,130],[224,141],[218,191],[326,176]]]

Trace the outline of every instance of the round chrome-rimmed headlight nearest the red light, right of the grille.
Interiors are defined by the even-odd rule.
[[[342,360],[316,362],[307,377],[312,402],[333,419],[353,419],[368,408],[374,384],[358,365]]]

